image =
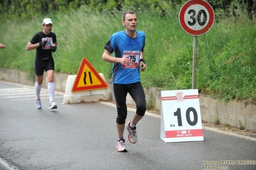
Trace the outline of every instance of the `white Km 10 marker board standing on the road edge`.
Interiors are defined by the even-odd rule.
[[[162,140],[203,141],[198,89],[161,91],[161,101]]]

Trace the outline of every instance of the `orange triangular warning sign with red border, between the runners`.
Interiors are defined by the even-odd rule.
[[[72,91],[77,92],[104,88],[108,88],[107,83],[101,78],[90,62],[86,58],[83,58]]]

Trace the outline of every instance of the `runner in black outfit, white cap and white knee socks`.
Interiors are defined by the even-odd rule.
[[[57,40],[55,33],[51,32],[53,22],[51,19],[46,18],[42,21],[43,31],[36,33],[26,47],[27,50],[36,49],[35,55],[35,77],[37,81],[35,82],[36,91],[36,104],[37,109],[41,109],[42,105],[40,102],[40,89],[42,87],[42,82],[44,79],[44,70],[46,70],[46,76],[48,81],[48,92],[49,92],[49,109],[56,109],[57,105],[55,103],[55,84],[54,84],[54,69],[55,63],[53,61],[53,56],[51,52],[55,52],[57,49]]]

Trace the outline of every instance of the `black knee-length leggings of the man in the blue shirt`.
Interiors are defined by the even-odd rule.
[[[116,123],[123,125],[127,117],[126,96],[131,95],[136,104],[136,114],[144,116],[146,112],[146,96],[141,82],[132,84],[113,84],[115,104],[117,106]]]

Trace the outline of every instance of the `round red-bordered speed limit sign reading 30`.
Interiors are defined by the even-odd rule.
[[[187,1],[180,9],[179,21],[182,29],[188,34],[203,35],[214,23],[214,10],[206,1]]]

